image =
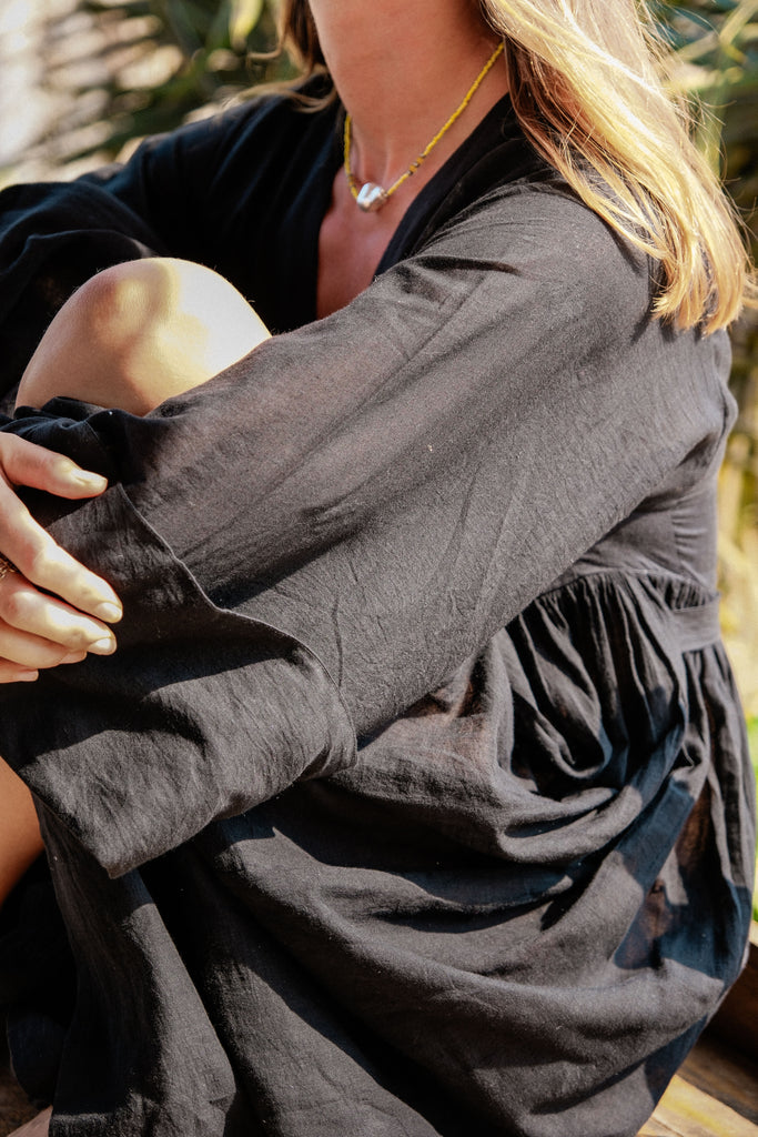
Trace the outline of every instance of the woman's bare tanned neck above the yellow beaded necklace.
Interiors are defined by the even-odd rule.
[[[392,183],[453,113],[497,39],[465,0],[311,0],[330,72],[352,118],[352,167]],[[428,159],[432,173],[507,91],[492,68]]]

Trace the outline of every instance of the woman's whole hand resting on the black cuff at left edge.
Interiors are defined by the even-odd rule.
[[[122,617],[118,597],[38,525],[14,490],[80,499],[107,484],[63,455],[0,434],[0,550],[18,570],[0,580],[0,682],[34,680],[40,667],[115,650],[107,625]]]

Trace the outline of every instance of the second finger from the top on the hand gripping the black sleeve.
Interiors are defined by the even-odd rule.
[[[122,604],[110,584],[75,561],[39,525],[0,480],[0,549],[23,576],[74,608],[108,623],[120,620]],[[11,580],[6,578],[6,582]],[[3,582],[5,583],[5,582]],[[7,616],[14,623],[11,616]]]

